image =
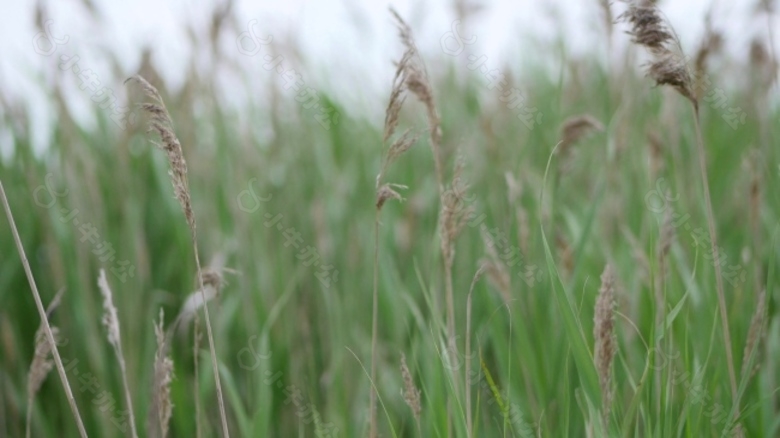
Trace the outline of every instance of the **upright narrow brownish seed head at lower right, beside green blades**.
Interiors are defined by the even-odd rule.
[[[599,375],[603,399],[605,424],[612,406],[612,362],[617,353],[615,338],[615,277],[612,267],[607,265],[601,274],[601,288],[596,298],[593,324],[595,341],[594,361]]]

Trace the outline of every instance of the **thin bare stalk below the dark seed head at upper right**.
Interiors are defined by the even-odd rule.
[[[726,309],[726,296],[723,293],[723,274],[720,268],[720,257],[718,254],[718,236],[715,232],[715,215],[712,212],[712,198],[710,197],[710,184],[707,177],[707,157],[705,155],[704,140],[701,133],[701,120],[699,115],[699,104],[691,100],[693,106],[694,122],[696,127],[696,149],[699,155],[699,168],[701,170],[701,180],[704,186],[704,200],[707,205],[707,225],[710,231],[710,243],[712,246],[712,257],[715,260],[715,281],[718,291],[718,307],[720,308],[720,320],[723,328],[723,341],[726,344],[726,361],[729,370],[729,384],[731,386],[731,398],[734,402],[737,400],[737,375],[734,372],[734,354],[731,350],[731,331],[729,330],[729,316]]]

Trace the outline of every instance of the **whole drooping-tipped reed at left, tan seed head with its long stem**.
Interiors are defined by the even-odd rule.
[[[170,170],[168,174],[171,177],[171,183],[173,184],[173,192],[176,199],[181,204],[182,210],[184,210],[184,217],[187,219],[187,224],[190,227],[190,236],[192,238],[192,249],[195,254],[195,265],[198,271],[198,279],[200,280],[200,291],[202,294],[203,303],[207,303],[206,290],[203,284],[203,270],[200,266],[200,256],[198,255],[198,239],[196,234],[195,214],[192,211],[192,202],[190,199],[189,183],[187,181],[187,163],[184,160],[184,152],[182,151],[179,139],[176,137],[173,131],[173,120],[168,109],[165,107],[165,103],[162,100],[162,96],[152,84],[146,81],[143,77],[136,75],[128,78],[125,83],[129,81],[138,82],[144,91],[144,94],[150,98],[153,103],[143,103],[141,108],[146,111],[150,116],[149,130],[156,132],[161,139],[161,143],[155,143],[157,147],[162,149],[168,156],[168,162],[170,164]],[[203,315],[206,320],[206,336],[209,340],[209,351],[211,352],[211,365],[214,371],[214,382],[217,387],[217,401],[219,404],[219,414],[222,420],[222,435],[229,437],[230,432],[227,426],[227,415],[225,414],[225,402],[222,397],[222,384],[219,378],[219,365],[217,363],[217,348],[214,345],[214,335],[211,330],[211,318],[209,318],[209,307],[203,305]]]

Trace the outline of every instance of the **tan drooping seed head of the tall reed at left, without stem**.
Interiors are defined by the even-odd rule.
[[[162,96],[152,84],[143,77],[136,75],[125,81],[135,81],[141,84],[141,88],[147,97],[152,99],[151,103],[141,104],[141,108],[150,116],[149,131],[154,131],[160,136],[160,143],[156,143],[158,148],[162,149],[168,156],[168,162],[171,169],[168,174],[173,184],[173,192],[176,199],[184,210],[184,216],[187,218],[187,224],[194,233],[195,214],[192,211],[192,202],[190,200],[189,183],[187,182],[187,162],[184,160],[184,152],[181,143],[173,131],[173,120],[165,107]]]

